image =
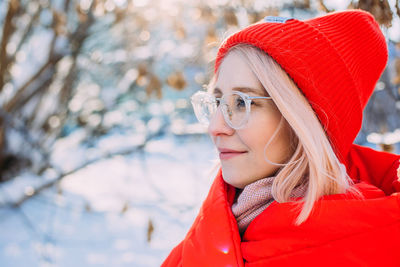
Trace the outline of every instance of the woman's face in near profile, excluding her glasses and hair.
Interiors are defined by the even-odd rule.
[[[241,56],[227,54],[219,67],[212,93],[222,97],[231,91],[249,96],[268,96],[260,81]],[[221,108],[210,121],[208,132],[219,151],[224,180],[237,188],[273,176],[279,166],[264,159],[264,147],[278,129],[281,113],[271,99],[255,99],[244,128],[235,130],[225,122]],[[291,154],[290,130],[282,118],[281,128],[268,145],[265,156],[273,163],[284,163]]]

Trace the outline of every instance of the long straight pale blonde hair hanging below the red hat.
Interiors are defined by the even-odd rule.
[[[297,186],[307,185],[306,193],[299,202],[302,206],[295,223],[299,225],[306,221],[314,203],[324,195],[346,191],[359,195],[352,187],[346,168],[336,156],[315,112],[288,74],[275,60],[255,46],[239,44],[228,53],[232,51],[243,57],[290,126],[288,128],[292,132],[294,146],[290,159],[285,164],[273,163],[266,157],[265,160],[281,166],[272,185],[272,195],[277,202],[291,201],[292,191]],[[218,72],[214,82],[217,75]],[[282,123],[271,139],[281,126]],[[271,141],[266,145],[264,155]]]

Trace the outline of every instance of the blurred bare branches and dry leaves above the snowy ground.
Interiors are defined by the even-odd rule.
[[[51,152],[57,140],[77,130],[86,148],[116,131],[139,136],[122,154],[166,133],[204,133],[188,99],[208,82],[223,38],[266,15],[308,18],[334,11],[330,2],[1,1],[0,181],[26,170],[41,175],[52,169],[64,177]],[[398,20],[399,1],[347,1],[346,7],[371,12],[390,50],[357,142],[395,151],[400,36],[388,33]]]

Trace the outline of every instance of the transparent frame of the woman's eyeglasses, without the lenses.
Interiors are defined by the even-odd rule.
[[[195,112],[196,118],[197,118],[197,120],[198,120],[200,123],[202,123],[202,124],[209,124],[209,123],[210,123],[210,118],[211,118],[211,116],[210,116],[210,118],[208,118],[208,122],[204,122],[204,121],[201,121],[201,120],[199,119],[199,116],[197,115],[197,111],[196,111],[197,108],[196,108],[196,106],[195,106],[195,105],[197,105],[197,103],[195,103],[195,100],[194,100],[194,97],[195,97],[196,95],[198,95],[198,94],[207,95],[207,96],[212,97],[212,99],[213,99],[212,103],[216,103],[217,101],[220,101],[220,104],[216,106],[216,109],[215,109],[215,111],[214,111],[214,114],[217,112],[217,109],[218,109],[219,107],[221,107],[221,106],[228,106],[228,104],[226,103],[226,100],[225,100],[225,97],[226,97],[226,96],[230,96],[230,95],[237,94],[237,95],[239,95],[240,97],[242,97],[243,100],[244,100],[244,102],[245,102],[246,117],[245,117],[245,119],[243,120],[243,122],[242,122],[239,126],[234,126],[234,125],[232,125],[232,123],[231,123],[231,121],[229,120],[229,117],[228,117],[229,115],[227,114],[227,108],[223,108],[223,109],[222,109],[222,115],[223,115],[223,117],[224,117],[225,122],[229,125],[229,127],[231,127],[232,129],[235,129],[235,130],[242,129],[242,128],[246,125],[246,123],[248,122],[249,117],[250,117],[250,112],[251,112],[251,101],[252,101],[253,99],[268,99],[268,100],[271,100],[271,99],[272,99],[272,97],[270,97],[270,96],[249,96],[248,94],[243,93],[243,92],[241,92],[241,91],[232,91],[232,92],[230,92],[230,93],[228,93],[228,94],[224,94],[222,97],[215,97],[214,95],[212,95],[212,94],[210,94],[210,93],[208,93],[208,92],[199,90],[199,91],[197,91],[196,93],[194,93],[194,94],[191,96],[190,99],[191,99],[191,103],[192,103],[193,110],[194,110],[194,112]],[[210,114],[210,115],[211,115],[211,114]]]

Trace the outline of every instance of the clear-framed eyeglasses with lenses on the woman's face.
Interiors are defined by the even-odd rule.
[[[249,120],[253,99],[272,99],[272,97],[249,96],[239,91],[215,97],[207,92],[198,91],[191,97],[191,102],[200,123],[208,125],[221,106],[226,123],[237,130],[243,128]]]

